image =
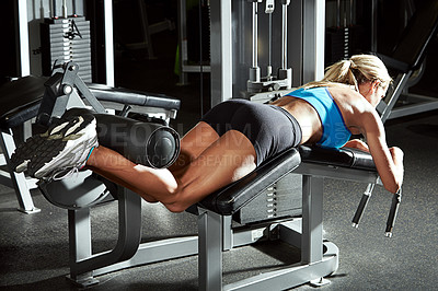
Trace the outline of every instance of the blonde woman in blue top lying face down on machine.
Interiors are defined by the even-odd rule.
[[[21,158],[20,150],[13,160],[16,171],[30,168],[38,178],[87,166],[149,202],[160,201],[170,211],[181,212],[242,178],[267,158],[290,147],[318,143],[369,151],[383,186],[395,193],[403,183],[403,152],[388,148],[374,109],[390,82],[380,59],[358,55],[328,67],[322,81],[269,105],[243,100],[221,103],[181,140],[180,156],[169,168],[135,164],[99,146],[95,119],[87,115],[41,136],[46,140],[48,160],[43,161],[47,162]],[[351,135],[364,135],[368,144],[349,140]]]

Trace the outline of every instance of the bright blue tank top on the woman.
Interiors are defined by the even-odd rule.
[[[316,144],[338,149],[349,140],[351,132],[345,126],[341,110],[326,88],[299,89],[287,96],[302,98],[316,109],[323,127],[321,140]]]

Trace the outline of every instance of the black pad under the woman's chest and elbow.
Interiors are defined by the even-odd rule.
[[[315,163],[357,170],[377,171],[371,154],[350,148],[299,147],[303,163]]]

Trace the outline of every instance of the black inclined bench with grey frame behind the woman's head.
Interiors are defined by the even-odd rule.
[[[389,56],[378,54],[385,66],[397,73],[392,90],[389,90],[385,98],[377,107],[383,123],[438,108],[436,98],[407,93],[410,78],[422,67],[430,40],[437,32],[438,2],[422,1],[402,32],[392,54]],[[399,106],[399,101],[403,101],[403,105]]]

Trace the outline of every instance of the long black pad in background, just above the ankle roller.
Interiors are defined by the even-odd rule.
[[[87,84],[91,93],[100,101],[110,101],[129,105],[158,107],[178,110],[181,101],[163,94],[150,94],[139,91],[112,88],[101,84]]]

